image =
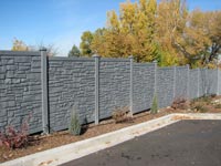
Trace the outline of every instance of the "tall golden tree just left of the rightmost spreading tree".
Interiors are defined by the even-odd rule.
[[[187,17],[188,10],[185,1],[162,0],[159,2],[156,17],[156,38],[160,48],[160,65],[187,63],[175,46],[175,42],[182,37]]]

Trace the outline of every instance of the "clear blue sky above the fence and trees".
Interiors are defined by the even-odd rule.
[[[54,44],[66,55],[82,32],[105,27],[106,12],[126,0],[0,0],[0,50],[14,38],[28,45]],[[135,0],[133,0],[135,1]],[[190,10],[221,10],[221,0],[187,0]]]

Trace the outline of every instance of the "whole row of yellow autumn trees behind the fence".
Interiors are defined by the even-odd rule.
[[[106,28],[90,32],[86,48],[90,54],[134,55],[136,62],[157,60],[160,66],[213,68],[221,53],[220,18],[221,11],[190,12],[185,0],[161,0],[158,4],[156,0],[126,1],[120,3],[119,14],[107,12]]]

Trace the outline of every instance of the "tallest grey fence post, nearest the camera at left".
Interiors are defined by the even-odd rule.
[[[42,127],[43,134],[49,134],[49,96],[48,96],[48,56],[46,49],[41,52],[41,91],[42,91]]]

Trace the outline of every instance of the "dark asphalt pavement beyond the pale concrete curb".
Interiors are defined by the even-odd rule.
[[[181,121],[63,166],[221,166],[221,121]]]

